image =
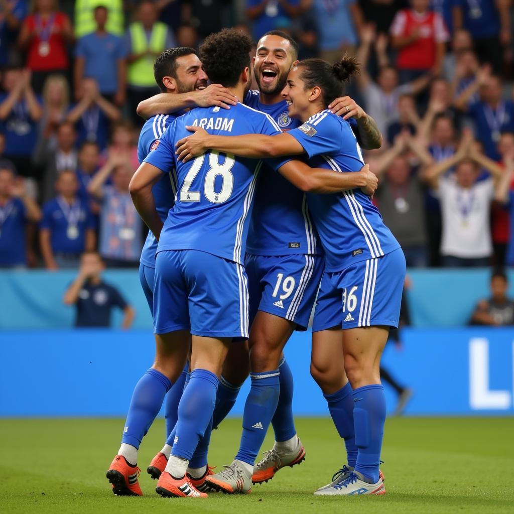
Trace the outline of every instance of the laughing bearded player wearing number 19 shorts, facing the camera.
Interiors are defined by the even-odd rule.
[[[289,35],[281,31],[266,33],[258,43],[254,58],[259,91],[249,91],[245,98],[247,105],[271,116],[284,132],[300,125],[298,120],[289,118],[287,102],[281,96],[287,74],[297,62],[297,54],[298,45]],[[178,98],[170,100],[176,103]],[[170,105],[162,107],[169,109]],[[172,107],[177,108],[177,105]],[[381,136],[374,120],[353,100],[338,99],[334,109],[357,118],[356,131],[362,134],[365,148],[380,146]],[[237,459],[238,466],[246,468],[245,476],[250,473],[261,447],[269,415],[273,416],[276,443],[256,465],[253,476],[250,473],[254,483],[269,480],[279,469],[297,464],[305,456],[293,422],[292,375],[282,350],[295,329],[306,329],[314,305],[323,267],[316,242],[317,234],[305,205],[304,192],[280,174],[263,173],[256,187],[245,258],[250,292],[252,391],[245,408],[242,458]],[[245,360],[248,361],[248,357],[243,344],[232,345],[218,386],[215,427],[234,405],[247,377]],[[263,417],[259,412],[261,396],[267,396],[269,388],[259,377],[273,370],[279,370],[280,384],[278,388],[276,384],[272,387],[273,401],[267,403]],[[280,391],[278,403],[277,389]],[[255,416],[260,419],[253,419]],[[200,445],[204,445],[204,441]],[[235,475],[231,477],[235,481]],[[246,476],[243,488],[249,487],[250,480]],[[234,489],[233,485],[230,488]]]

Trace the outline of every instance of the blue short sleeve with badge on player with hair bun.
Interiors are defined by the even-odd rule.
[[[315,155],[333,154],[341,149],[341,122],[333,115],[324,113],[309,118],[298,128],[289,131],[305,150],[309,158]],[[352,136],[353,137],[353,136]]]

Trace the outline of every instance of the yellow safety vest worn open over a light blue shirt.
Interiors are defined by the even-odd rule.
[[[135,22],[128,28],[132,44],[132,53],[141,53],[145,50],[162,52],[166,47],[166,33],[168,27],[165,23],[156,22],[152,28],[150,42],[146,39],[144,28],[140,22]],[[128,65],[127,83],[132,86],[155,86],[154,56],[144,56]]]

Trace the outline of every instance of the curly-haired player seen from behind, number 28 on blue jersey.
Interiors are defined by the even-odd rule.
[[[200,47],[208,76],[241,100],[251,82],[251,41],[244,33],[224,29]],[[187,125],[206,127],[217,134],[277,134],[278,126],[266,114],[241,103],[230,110],[196,108],[177,118],[160,138],[131,181],[134,203],[159,238],[154,290],[155,332],[171,337],[190,330],[191,375],[178,407],[171,456],[160,475],[157,492],[171,497],[200,497],[205,475],[198,480],[189,462],[201,437],[212,423],[218,377],[233,338],[248,337],[248,286],[243,258],[256,180],[261,162],[234,159],[209,152],[192,163],[176,160],[176,142]],[[288,179],[306,190],[334,192],[365,186],[367,170],[355,174],[311,170],[305,163],[273,162]],[[161,173],[176,170],[175,206],[162,221],[152,197]],[[353,183],[352,183],[353,182]],[[173,358],[183,365],[186,354],[178,344]],[[171,352],[170,352],[171,357]],[[205,466],[206,467],[206,466]],[[195,483],[196,482],[196,483]]]

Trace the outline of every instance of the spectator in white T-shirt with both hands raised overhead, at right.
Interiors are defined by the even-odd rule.
[[[489,212],[494,182],[502,170],[476,150],[469,135],[449,159],[434,163],[425,173],[438,191],[443,217],[441,254],[448,267],[487,266],[492,254]],[[445,172],[455,167],[455,174]],[[480,168],[493,177],[478,181]]]

